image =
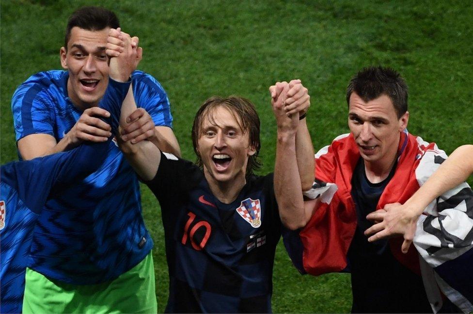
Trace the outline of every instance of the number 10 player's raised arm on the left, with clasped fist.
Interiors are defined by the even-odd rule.
[[[131,38],[128,34],[114,29],[110,30],[108,37],[107,54],[111,57],[110,77],[122,75],[121,72],[124,66],[133,64],[133,60],[136,68],[142,59],[142,49],[138,47],[138,38]],[[121,112],[120,129],[130,124],[130,122],[127,122],[127,118],[135,110],[133,89],[130,86],[120,110],[113,111],[113,114]],[[144,180],[153,179],[161,161],[161,152],[158,147],[150,141],[139,141],[133,144],[131,140],[123,141],[120,136],[117,136],[117,141],[120,150],[123,151],[126,159],[138,175]]]

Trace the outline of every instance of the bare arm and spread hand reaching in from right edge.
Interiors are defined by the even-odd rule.
[[[365,231],[368,241],[403,236],[402,252],[406,253],[414,237],[416,222],[424,209],[441,194],[453,189],[473,173],[473,145],[463,145],[452,152],[404,205],[388,204],[366,216],[378,221]]]

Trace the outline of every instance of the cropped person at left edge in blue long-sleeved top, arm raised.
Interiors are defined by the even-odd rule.
[[[117,76],[115,79],[121,79]],[[127,76],[122,81],[127,80]],[[116,129],[119,107],[131,82],[110,79],[100,108],[111,112],[103,118]],[[115,105],[110,104],[114,102]],[[79,147],[30,161],[2,165],[0,200],[0,303],[1,313],[21,313],[25,272],[30,253],[33,228],[48,197],[67,191],[78,180],[94,172],[105,160],[107,142],[84,142]]]

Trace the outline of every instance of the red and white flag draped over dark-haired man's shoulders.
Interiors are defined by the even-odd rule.
[[[359,158],[350,134],[338,136],[315,154],[316,181],[305,196],[320,197],[321,202],[299,233],[303,246],[300,270],[320,275],[347,267],[347,252],[357,224],[351,178]],[[406,202],[446,158],[435,143],[407,131],[401,133],[396,170],[377,209]],[[417,223],[415,248],[411,246],[408,254],[401,252],[402,240],[389,240],[394,257],[412,271],[422,272],[427,286],[436,283],[463,312],[473,311],[473,193],[468,184],[441,195],[425,209]],[[435,289],[426,288],[426,292],[437,312],[441,302]]]

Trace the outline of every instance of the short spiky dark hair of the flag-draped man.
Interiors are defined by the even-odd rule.
[[[407,111],[408,87],[401,75],[391,68],[380,66],[364,68],[348,84],[348,105],[350,105],[350,95],[353,92],[356,92],[365,102],[381,95],[388,96],[393,102],[398,119]]]

